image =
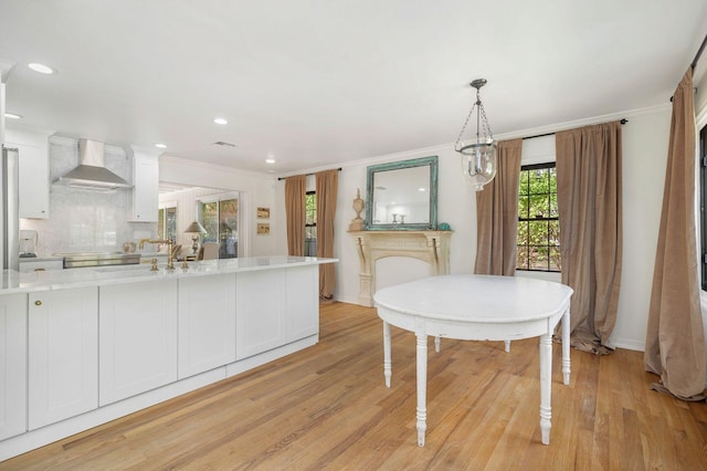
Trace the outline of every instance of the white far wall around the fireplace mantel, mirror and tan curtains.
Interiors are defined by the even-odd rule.
[[[657,244],[663,185],[667,158],[671,107],[627,112],[612,116],[563,123],[555,129],[515,133],[496,136],[499,139],[542,134],[550,130],[579,127],[625,117],[629,123],[622,128],[623,136],[623,271],[619,301],[619,315],[611,342],[618,347],[644,349],[647,325],[651,280]],[[538,138],[524,143],[524,163],[544,161],[555,155],[553,139]],[[357,163],[341,163],[339,195],[336,216],[335,257],[337,264],[337,300],[348,303],[358,301],[359,260],[352,239],[347,234],[348,224],[356,216],[351,208],[357,188],[366,195],[366,169],[369,165],[404,160],[436,155],[440,158],[439,222],[449,222],[454,230],[451,248],[451,272],[472,273],[476,255],[476,203],[475,193],[467,187],[460,172],[458,156],[452,146],[440,146],[407,153],[380,156]],[[312,169],[308,171],[317,171]],[[284,181],[277,182],[276,207],[284,205]],[[284,210],[278,214],[283,228],[275,234],[276,250],[286,252]],[[409,263],[387,263],[377,273],[380,285],[389,285],[428,275],[425,266]],[[382,268],[382,266],[381,266]],[[414,271],[418,270],[415,273]]]

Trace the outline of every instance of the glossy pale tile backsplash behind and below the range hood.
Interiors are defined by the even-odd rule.
[[[21,219],[21,229],[39,232],[38,255],[57,252],[123,251],[124,242],[157,236],[157,223],[128,222],[130,190],[99,192],[54,184],[78,165],[74,139],[50,138],[50,219]],[[105,166],[131,181],[131,156],[106,146]],[[22,185],[22,182],[20,182]],[[152,250],[152,249],[150,249]]]

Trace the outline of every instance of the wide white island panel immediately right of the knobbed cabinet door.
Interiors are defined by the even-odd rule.
[[[101,286],[99,404],[177,380],[177,280]]]

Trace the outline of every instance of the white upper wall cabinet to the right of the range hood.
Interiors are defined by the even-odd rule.
[[[157,222],[159,205],[159,161],[156,156],[133,155],[134,222]]]

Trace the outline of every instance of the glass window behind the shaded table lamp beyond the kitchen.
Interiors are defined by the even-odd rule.
[[[234,259],[239,254],[238,193],[208,197],[199,200],[198,213],[207,233],[203,242],[219,242],[219,259]]]

